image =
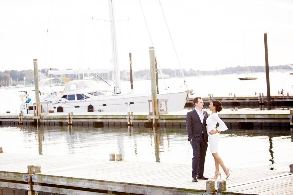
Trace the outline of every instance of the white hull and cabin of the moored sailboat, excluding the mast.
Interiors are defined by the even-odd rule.
[[[99,85],[93,80],[73,80],[66,84],[63,92],[42,95],[41,102],[49,102],[49,110],[54,112],[149,112],[151,95],[114,94],[113,90],[98,90]],[[188,91],[181,93],[157,94],[158,99],[168,100],[168,111],[181,111],[184,108]],[[32,100],[34,102],[34,100]],[[24,113],[33,113],[33,103],[20,106]],[[27,111],[23,109],[26,108]],[[161,111],[166,111],[165,104],[159,104]],[[49,112],[47,107],[44,112]]]

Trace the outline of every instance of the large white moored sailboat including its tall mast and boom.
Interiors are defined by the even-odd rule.
[[[113,52],[113,77],[115,79],[114,91],[102,89],[93,80],[73,80],[66,83],[60,93],[52,93],[40,97],[41,102],[48,102],[44,112],[152,112],[149,108],[150,94],[121,94],[120,70],[118,64],[117,38],[113,1],[109,0],[109,11],[111,21],[111,43]],[[67,72],[66,72],[67,71]],[[66,70],[70,74],[74,70]],[[78,73],[87,73],[92,70],[76,70]],[[77,73],[77,72],[74,73]],[[109,70],[105,70],[109,71]],[[63,76],[66,74],[64,71]],[[49,71],[50,74],[62,74],[58,71]],[[181,111],[188,98],[189,91],[179,93],[158,94],[158,99],[167,100],[167,104],[159,103],[159,110],[162,112]],[[34,100],[30,103],[23,103],[20,112],[33,113]],[[167,108],[168,105],[168,108]]]

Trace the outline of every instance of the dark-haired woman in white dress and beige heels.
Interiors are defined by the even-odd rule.
[[[218,116],[218,112],[222,110],[222,103],[219,100],[212,100],[209,107],[212,111],[212,114],[209,115],[206,123],[208,126],[207,131],[210,140],[211,153],[214,157],[216,167],[215,177],[213,177],[212,179],[217,179],[221,175],[219,165],[221,165],[222,169],[226,174],[226,179],[228,179],[228,177],[230,176],[230,169],[225,167],[224,162],[218,155],[218,143],[220,140],[220,132],[228,129],[225,123]],[[217,123],[219,123],[219,127],[216,130],[213,130]]]

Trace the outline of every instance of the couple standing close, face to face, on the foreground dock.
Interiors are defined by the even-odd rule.
[[[230,176],[230,169],[225,167],[224,162],[218,155],[219,134],[221,131],[228,129],[218,116],[218,112],[222,110],[222,103],[219,100],[212,100],[209,105],[212,114],[209,116],[206,111],[202,110],[204,107],[202,98],[194,98],[193,103],[195,105],[194,110],[188,112],[186,115],[188,141],[190,141],[193,150],[192,181],[197,182],[197,179],[208,179],[203,175],[208,139],[210,141],[211,153],[215,161],[215,176],[212,179],[217,179],[218,176],[221,175],[219,165],[221,165],[224,170],[227,179]],[[218,124],[219,126],[217,126]]]

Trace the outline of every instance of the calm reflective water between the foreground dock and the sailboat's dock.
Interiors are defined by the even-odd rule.
[[[293,129],[229,129],[221,133],[219,153],[230,167],[287,170],[293,156]],[[13,141],[10,141],[13,137]],[[291,138],[291,139],[290,139]],[[190,164],[186,129],[90,126],[0,126],[5,152]],[[286,148],[286,150],[284,150]],[[208,153],[206,165],[213,166]]]

